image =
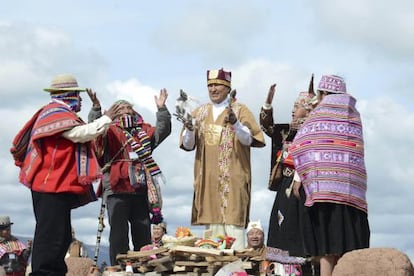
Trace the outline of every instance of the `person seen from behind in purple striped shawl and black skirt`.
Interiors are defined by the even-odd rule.
[[[292,156],[305,193],[310,255],[331,275],[346,252],[369,247],[362,121],[343,78],[324,75],[318,106],[298,131]]]

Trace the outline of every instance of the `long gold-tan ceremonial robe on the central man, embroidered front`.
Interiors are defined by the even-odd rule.
[[[241,144],[233,126],[225,122],[227,111],[213,121],[212,104],[208,103],[192,114],[196,138],[192,225],[246,227],[249,222],[250,147],[264,147],[265,142],[250,110],[238,102],[232,104],[232,109],[250,130],[253,138],[250,146]]]

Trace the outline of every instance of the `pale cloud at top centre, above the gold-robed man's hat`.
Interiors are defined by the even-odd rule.
[[[201,55],[209,63],[243,59],[268,20],[265,7],[214,2],[190,3],[177,14],[167,14],[152,33],[154,46],[171,54]]]

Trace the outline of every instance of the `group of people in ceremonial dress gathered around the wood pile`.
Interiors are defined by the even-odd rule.
[[[233,249],[253,248],[264,258],[267,249],[281,252],[281,263],[312,258],[321,275],[331,275],[344,253],[369,247],[364,143],[355,98],[335,75],[322,76],[315,93],[312,75],[294,103],[292,121],[275,123],[272,84],[257,122],[236,100],[231,78],[230,71],[208,70],[210,102],[181,118],[179,147],[195,150],[191,224],[205,225],[211,236],[235,238]],[[165,176],[153,151],[171,133],[167,90],[154,97],[155,125],[124,99],[102,113],[97,94],[70,74],[54,77],[44,90],[50,102],[23,126],[11,148],[19,181],[31,190],[36,219],[33,247],[16,243],[21,262],[31,253],[31,275],[65,275],[65,255],[74,249],[71,210],[98,198],[110,224],[111,265],[130,250],[130,238],[135,251],[162,246]],[[82,92],[92,102],[87,123],[77,115]],[[260,221],[250,221],[250,151],[265,147],[263,133],[272,141],[268,185],[276,191],[266,244]],[[1,256],[3,232],[11,224],[0,217]]]

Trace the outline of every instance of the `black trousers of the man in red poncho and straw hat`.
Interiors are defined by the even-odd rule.
[[[70,211],[76,195],[32,191],[32,200],[36,229],[30,275],[64,276],[65,255],[72,240]]]

